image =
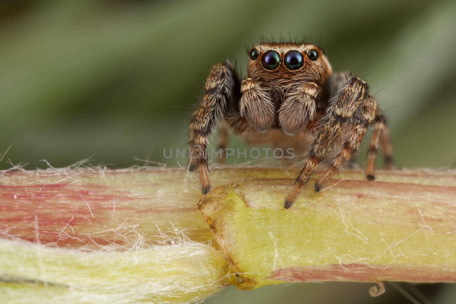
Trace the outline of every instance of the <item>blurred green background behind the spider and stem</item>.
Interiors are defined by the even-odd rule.
[[[1,1],[0,151],[12,146],[0,167],[7,159],[61,167],[91,155],[111,167],[135,158],[186,165],[163,148],[186,147],[207,73],[229,58],[245,76],[245,45],[263,35],[320,38],[334,70],[366,75],[397,166],[456,166],[455,15],[456,1],[425,0]],[[229,146],[243,144],[232,136]],[[392,285],[371,299],[369,287],[229,288],[204,303],[408,301]],[[456,301],[453,285],[404,288]]]

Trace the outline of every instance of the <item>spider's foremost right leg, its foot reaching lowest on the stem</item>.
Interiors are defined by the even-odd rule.
[[[323,119],[312,144],[309,159],[296,178],[293,189],[285,197],[285,208],[288,209],[293,205],[302,187],[306,185],[320,162],[332,150],[334,142],[341,134],[344,125],[358,110],[363,99],[368,94],[368,90],[368,85],[361,78],[351,76],[345,86],[332,98],[329,113]]]

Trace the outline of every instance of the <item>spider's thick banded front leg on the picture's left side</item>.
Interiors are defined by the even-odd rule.
[[[233,98],[238,96],[234,92],[236,85],[239,89],[238,76],[228,60],[212,67],[206,80],[206,93],[191,120],[189,170],[198,169],[202,194],[211,189],[207,167],[207,136],[220,116],[225,113],[227,103],[236,102],[233,101]]]

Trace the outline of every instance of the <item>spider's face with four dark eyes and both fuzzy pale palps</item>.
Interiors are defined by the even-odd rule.
[[[249,129],[280,127],[288,135],[304,129],[315,116],[312,97],[321,94],[332,75],[322,50],[311,44],[262,43],[249,51],[249,57],[249,78],[241,84],[244,94],[239,103]],[[262,98],[257,98],[259,93]]]

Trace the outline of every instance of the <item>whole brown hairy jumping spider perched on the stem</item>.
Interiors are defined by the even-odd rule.
[[[259,43],[248,55],[248,78],[242,82],[228,60],[212,67],[206,93],[192,117],[189,170],[198,169],[203,194],[211,189],[207,136],[220,118],[222,149],[228,128],[250,143],[292,145],[303,152],[307,149],[308,159],[285,197],[285,208],[293,205],[312,173],[339,142],[340,152],[314,184],[319,192],[358,150],[368,125],[373,124],[373,134],[366,178],[375,179],[379,141],[387,168],[392,166],[385,118],[363,79],[333,73],[322,49],[310,43]]]

